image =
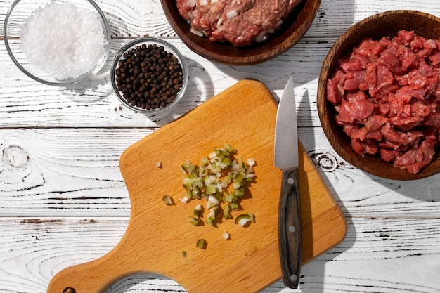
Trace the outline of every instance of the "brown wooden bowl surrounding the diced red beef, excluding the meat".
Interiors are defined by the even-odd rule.
[[[368,18],[364,18],[363,20],[360,20],[356,24],[352,25],[337,39],[337,41],[335,41],[335,44],[333,44],[332,48],[330,48],[330,51],[323,61],[321,73],[318,78],[318,92],[316,96],[318,117],[321,121],[321,126],[323,127],[324,134],[328,138],[328,141],[330,142],[330,145],[332,145],[332,148],[335,150],[335,152],[337,152],[340,157],[342,157],[342,159],[349,162],[349,164],[353,165],[354,167],[381,178],[398,181],[409,181],[427,178],[429,176],[438,174],[440,171],[439,150],[436,151],[436,155],[434,155],[432,162],[427,167],[422,169],[418,174],[410,174],[408,173],[408,171],[406,171],[406,169],[399,169],[398,167],[394,167],[393,164],[384,162],[382,159],[380,159],[380,157],[363,157],[361,155],[358,155],[351,148],[350,143],[343,144],[340,143],[340,140],[338,140],[338,138],[342,137],[342,140],[349,141],[349,137],[342,131],[342,128],[340,126],[335,129],[335,122],[330,119],[332,113],[335,112],[333,108],[334,106],[325,98],[327,79],[332,75],[335,70],[335,59],[337,57],[337,53],[339,53],[339,56],[344,56],[344,54],[349,53],[349,51],[347,50],[342,53],[339,52],[339,49],[341,49],[344,41],[347,41],[347,39],[349,39],[349,37],[352,37],[354,33],[360,32],[365,25],[368,25],[372,22],[380,22],[382,18],[389,17],[390,15],[404,15],[411,18],[423,18],[427,20],[432,20],[434,22],[437,22],[440,27],[440,18],[437,18],[435,15],[431,15],[429,13],[413,10],[384,11],[382,13],[371,15]],[[386,36],[386,32],[382,34],[384,35],[384,37]],[[362,37],[353,37],[353,39],[357,39],[358,43],[360,43],[361,40],[366,37],[371,36],[363,35]],[[356,44],[356,46],[358,45],[358,43]]]

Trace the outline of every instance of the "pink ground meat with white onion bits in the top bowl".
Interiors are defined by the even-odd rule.
[[[268,38],[301,0],[176,0],[191,32],[248,46]]]

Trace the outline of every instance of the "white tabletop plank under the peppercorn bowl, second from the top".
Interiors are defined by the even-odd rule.
[[[112,41],[112,53],[105,70],[110,70],[111,60],[128,40]],[[257,66],[230,67],[210,63],[197,58],[195,53],[177,39],[170,39],[188,61],[190,81],[183,100],[175,110],[164,115],[143,115],[125,108],[117,100],[110,84],[110,78],[98,80],[67,89],[58,89],[33,82],[22,74],[12,60],[4,58],[0,65],[0,128],[11,127],[155,127],[164,125],[179,117],[212,96],[224,91],[242,78],[264,80],[274,96],[280,96],[288,77],[291,75],[298,93],[307,92],[309,101],[316,100],[316,84],[321,63],[334,39],[300,42],[285,55],[271,63]],[[0,53],[6,56],[4,44]],[[194,61],[197,60],[197,61]],[[267,77],[266,72],[273,72]],[[207,74],[209,72],[209,74]],[[90,87],[89,87],[90,86]],[[316,107],[313,108],[313,125],[319,126]],[[301,123],[301,121],[300,121]],[[309,122],[308,122],[309,123]]]

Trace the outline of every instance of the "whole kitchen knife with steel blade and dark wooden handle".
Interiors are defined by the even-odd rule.
[[[301,272],[301,211],[299,200],[299,153],[297,109],[292,77],[278,104],[274,164],[283,171],[278,211],[278,245],[286,287],[296,289]]]

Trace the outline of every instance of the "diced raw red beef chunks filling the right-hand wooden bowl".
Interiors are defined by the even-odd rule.
[[[340,58],[326,98],[359,155],[417,174],[439,144],[439,76],[440,40],[401,30],[392,39],[365,39]]]

